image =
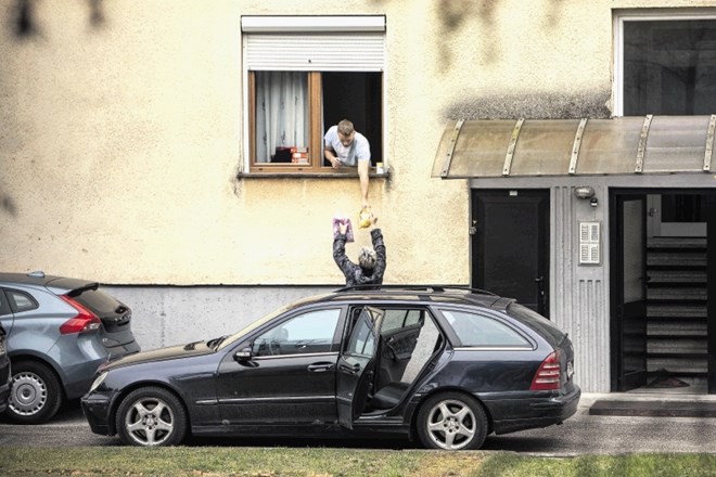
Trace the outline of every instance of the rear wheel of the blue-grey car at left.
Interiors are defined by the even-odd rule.
[[[36,361],[11,362],[11,369],[8,418],[18,424],[40,424],[52,418],[63,401],[62,386],[54,371]]]

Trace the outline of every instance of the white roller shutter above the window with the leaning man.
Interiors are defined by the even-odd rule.
[[[244,67],[250,70],[382,72],[385,17],[343,20],[341,23],[334,17],[321,16],[244,17]]]

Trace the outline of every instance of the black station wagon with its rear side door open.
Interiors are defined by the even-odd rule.
[[[133,446],[194,436],[388,436],[478,449],[577,409],[574,351],[513,299],[438,286],[342,288],[231,336],[103,365],[82,410]]]

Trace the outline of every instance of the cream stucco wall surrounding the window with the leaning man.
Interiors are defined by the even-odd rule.
[[[641,2],[645,3],[645,2]],[[696,4],[698,2],[666,2]],[[701,2],[702,4],[704,2]],[[116,284],[333,284],[356,179],[241,179],[242,14],[385,14],[387,282],[469,282],[468,184],[430,177],[448,118],[609,112],[612,1],[0,5],[3,270]],[[349,253],[367,242],[362,235]]]

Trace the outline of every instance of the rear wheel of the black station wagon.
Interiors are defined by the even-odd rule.
[[[420,441],[429,449],[475,450],[487,437],[485,410],[461,392],[440,392],[425,400],[417,426]]]

